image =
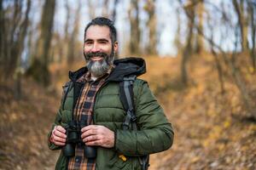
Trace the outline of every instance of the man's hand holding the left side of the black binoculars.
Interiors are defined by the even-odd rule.
[[[66,129],[61,126],[55,126],[49,139],[50,142],[57,146],[64,146],[66,144],[66,139]]]

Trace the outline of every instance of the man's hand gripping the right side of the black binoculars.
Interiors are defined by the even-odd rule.
[[[114,145],[114,133],[107,127],[89,125],[81,129],[81,138],[86,145],[112,148]]]

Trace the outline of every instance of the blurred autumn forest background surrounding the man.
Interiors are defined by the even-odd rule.
[[[96,16],[174,127],[149,169],[256,169],[254,0],[0,0],[0,169],[54,169],[47,133]]]

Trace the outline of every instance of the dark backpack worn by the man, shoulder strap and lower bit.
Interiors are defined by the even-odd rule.
[[[131,75],[129,77],[124,77],[124,80],[119,82],[120,100],[126,111],[125,120],[122,124],[123,130],[129,130],[131,123],[132,130],[137,131],[137,118],[135,115],[133,101],[133,83],[135,80],[136,75]],[[147,170],[149,167],[149,156],[138,156],[138,159],[143,170]]]

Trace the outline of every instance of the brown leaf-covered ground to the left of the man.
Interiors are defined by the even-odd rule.
[[[23,82],[15,100],[12,83],[0,87],[0,169],[54,169],[56,154],[47,147],[47,133],[59,105],[51,92]]]

